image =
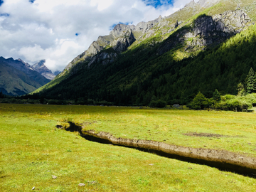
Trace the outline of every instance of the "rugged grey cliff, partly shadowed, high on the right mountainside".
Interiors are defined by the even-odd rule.
[[[240,33],[242,28],[250,22],[250,17],[245,11],[225,11],[214,16],[199,16],[188,28],[181,28],[176,36],[171,36],[159,48],[159,54],[176,48],[182,44],[186,51],[194,48],[206,48],[222,43],[230,36]]]

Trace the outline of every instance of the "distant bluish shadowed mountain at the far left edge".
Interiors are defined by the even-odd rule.
[[[23,60],[0,57],[0,90],[5,95],[24,95],[48,82],[50,80]]]

